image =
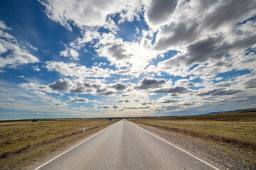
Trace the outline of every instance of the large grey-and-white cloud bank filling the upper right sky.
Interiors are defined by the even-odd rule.
[[[178,1],[154,43],[155,50],[177,50],[178,54],[159,62],[157,70],[187,77],[252,69],[255,55],[242,52],[255,46],[255,20],[251,19],[255,6],[252,0]],[[199,67],[191,71],[195,64]]]

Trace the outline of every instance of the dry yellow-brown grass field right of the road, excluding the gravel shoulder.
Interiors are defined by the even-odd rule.
[[[256,150],[256,113],[226,113],[132,120],[172,132]]]

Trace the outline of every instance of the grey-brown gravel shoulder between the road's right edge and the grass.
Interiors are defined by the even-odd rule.
[[[224,169],[256,169],[256,155],[253,150],[240,149],[221,142],[202,140],[140,123],[135,124],[178,147],[206,157],[215,164],[223,166]]]

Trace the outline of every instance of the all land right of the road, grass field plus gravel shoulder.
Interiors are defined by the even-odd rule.
[[[256,112],[129,120],[226,169],[256,169]]]

